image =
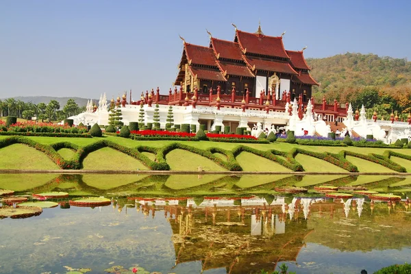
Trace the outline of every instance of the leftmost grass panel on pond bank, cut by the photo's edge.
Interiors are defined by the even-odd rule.
[[[59,169],[47,155],[27,145],[3,147],[0,155],[0,169]]]

